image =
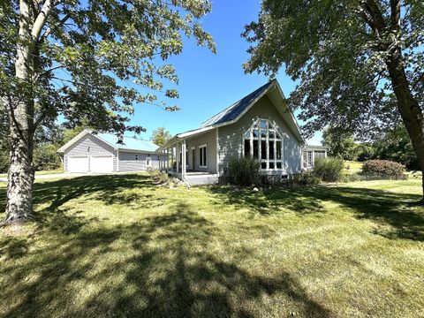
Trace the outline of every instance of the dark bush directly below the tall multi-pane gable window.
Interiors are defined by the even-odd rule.
[[[239,186],[252,186],[261,181],[261,163],[252,157],[233,157],[229,163],[231,181]]]

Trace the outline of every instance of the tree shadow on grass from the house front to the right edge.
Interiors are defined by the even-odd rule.
[[[287,189],[273,188],[260,192],[227,186],[210,187],[224,204],[247,207],[260,215],[276,214],[288,208],[299,214],[325,212],[325,202],[349,208],[358,218],[373,220],[390,230],[375,231],[390,239],[424,240],[424,208],[413,207],[418,194],[390,193],[384,190],[347,186],[310,186]]]

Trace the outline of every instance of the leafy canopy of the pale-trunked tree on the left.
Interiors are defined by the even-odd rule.
[[[166,60],[182,51],[183,36],[215,51],[200,22],[210,9],[208,0],[4,1],[2,111],[16,99],[35,101],[34,126],[60,115],[72,126],[87,118],[97,130],[140,133],[126,123],[134,105],[178,110],[167,103],[178,97],[178,76]],[[26,55],[27,79],[15,76],[17,49]]]

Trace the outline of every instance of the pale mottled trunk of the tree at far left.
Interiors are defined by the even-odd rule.
[[[11,152],[5,223],[24,221],[33,213],[34,56],[29,26],[34,17],[30,15],[27,0],[20,0],[19,9],[19,44],[15,62],[19,94],[8,100]]]

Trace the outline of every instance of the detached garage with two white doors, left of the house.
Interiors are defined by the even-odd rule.
[[[117,143],[112,133],[92,133],[85,130],[67,142],[58,152],[63,157],[64,170],[70,173],[110,173],[142,171],[159,168],[165,155],[156,153],[156,146],[148,140],[124,137]]]

